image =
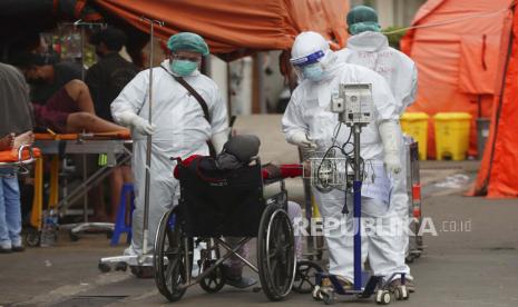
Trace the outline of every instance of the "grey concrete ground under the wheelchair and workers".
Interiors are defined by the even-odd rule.
[[[423,215],[437,236],[424,237],[424,255],[411,264],[418,290],[400,306],[518,306],[518,200],[468,198],[477,162],[421,164]],[[432,228],[428,228],[432,229]],[[0,306],[162,306],[154,279],[129,273],[100,274],[100,257],[120,255],[105,236],[62,236],[50,248],[0,255]],[[339,303],[350,300],[339,297]],[[339,304],[338,303],[338,304]],[[189,288],[184,306],[314,306],[310,295],[268,303],[262,293],[225,286],[208,295]],[[372,299],[349,306],[373,306]]]

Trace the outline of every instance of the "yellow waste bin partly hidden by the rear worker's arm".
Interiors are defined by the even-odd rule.
[[[418,141],[419,159],[427,159],[428,118],[423,112],[405,112],[401,116],[401,129]]]

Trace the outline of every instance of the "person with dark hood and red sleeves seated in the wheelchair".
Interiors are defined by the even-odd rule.
[[[258,148],[260,148],[261,141],[256,136],[251,136],[251,135],[243,135],[243,136],[234,136],[231,138],[224,146],[223,151],[217,155],[216,157],[208,157],[208,156],[199,156],[199,155],[193,155],[184,160],[177,159],[178,165],[182,166],[182,168],[189,168],[189,172],[184,172],[180,174],[180,167],[176,167],[174,169],[174,176],[177,179],[186,179],[186,176],[189,177],[193,174],[197,177],[197,179],[202,179],[205,182],[209,182],[209,185],[222,185],[222,180],[226,180],[225,178],[228,179],[228,181],[232,181],[232,177],[237,179],[236,181],[241,181],[242,185],[257,185],[260,187],[263,186],[263,182],[265,185],[272,184],[275,181],[280,181],[284,178],[289,177],[299,177],[302,176],[302,167],[300,165],[281,165],[281,166],[275,166],[272,164],[267,164],[265,166],[260,166],[257,165],[260,162],[257,158],[258,154]],[[261,174],[258,177],[262,178],[263,182],[261,182],[261,179],[255,178],[253,176],[250,176],[248,172],[243,171],[243,169],[246,169],[246,167],[257,167],[257,172]],[[250,168],[248,168],[250,169]],[[238,175],[236,175],[238,174]],[[234,176],[233,176],[234,175]],[[255,179],[254,179],[255,178]],[[258,179],[258,182],[255,182],[256,179]],[[187,179],[188,180],[188,179]],[[229,184],[235,185],[235,182]],[[202,191],[199,188],[198,189],[193,189],[193,191],[186,191],[187,189],[182,189],[182,192],[187,192],[190,194],[190,197],[202,199],[206,196],[206,191]],[[262,190],[260,190],[260,197],[262,197]],[[232,196],[231,196],[232,195]],[[225,198],[225,200],[228,200],[227,202],[232,202],[232,200],[240,199],[240,198],[246,198],[246,197],[256,197],[257,195],[246,195],[242,194],[240,195],[238,189],[228,189],[228,194],[222,192],[222,198]],[[198,201],[195,201],[198,202]],[[204,201],[199,201],[204,202]],[[190,204],[189,204],[190,205]],[[190,206],[189,206],[190,207]],[[199,210],[203,211],[204,214],[199,214],[199,211],[196,211],[198,214],[195,214],[195,217],[192,220],[192,225],[197,225],[198,231],[199,231],[199,225],[203,225],[202,228],[206,227],[207,229],[206,232],[213,231],[214,224],[221,222],[219,221],[214,221],[217,220],[217,216],[222,216],[223,211],[223,219],[225,221],[232,221],[232,222],[221,222],[223,225],[226,225],[227,229],[222,230],[223,232],[227,231],[225,235],[225,240],[231,245],[231,246],[236,246],[237,242],[242,239],[240,237],[232,236],[232,232],[238,232],[241,235],[246,235],[250,232],[250,235],[255,235],[257,232],[257,228],[254,228],[252,225],[256,225],[258,221],[252,220],[255,215],[250,215],[250,211],[253,210],[253,208],[240,208],[235,207],[228,211],[228,207],[222,208],[218,207],[216,204],[213,205],[212,208],[197,208],[197,209],[192,209],[192,210]],[[223,210],[223,211],[222,211]],[[208,214],[207,214],[208,212]],[[293,201],[287,201],[287,214],[290,219],[293,220],[295,218],[302,218],[302,210],[301,207]],[[203,216],[209,216],[213,218],[205,218]],[[260,217],[260,215],[257,215]],[[235,224],[234,221],[238,220],[240,222]],[[229,224],[233,224],[235,227],[231,226]],[[240,229],[236,229],[238,227]],[[228,232],[229,231],[229,232]],[[201,235],[198,232],[197,235]],[[207,235],[207,234],[204,234]],[[240,255],[247,257],[248,256],[248,245],[245,245],[242,249],[238,250]],[[299,236],[295,236],[295,254],[296,258],[301,259],[302,258],[302,240]],[[228,260],[225,261],[225,276],[226,276],[226,284],[238,287],[238,288],[245,288],[254,285],[256,281],[253,280],[252,278],[246,278],[242,276],[243,271],[243,263],[242,260],[236,257],[232,256]]]

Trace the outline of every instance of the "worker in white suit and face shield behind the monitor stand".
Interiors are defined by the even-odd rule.
[[[301,83],[293,91],[282,120],[286,140],[303,148],[325,151],[333,143],[333,133],[339,123],[338,115],[330,111],[332,95],[341,83],[371,83],[374,101],[373,121],[362,129],[361,156],[365,162],[365,179],[362,185],[362,217],[381,218],[380,226],[389,212],[390,179],[401,171],[401,129],[394,98],[387,81],[374,71],[340,62],[330,50],[328,41],[315,32],[302,32],[292,48],[292,65]],[[338,129],[336,129],[338,130]],[[348,139],[350,129],[342,125],[336,143]],[[348,197],[349,215],[342,214],[345,192],[332,190],[321,192],[313,188],[319,209],[324,218],[324,234],[330,250],[330,273],[339,276],[344,286],[353,281],[352,197]],[[326,220],[345,224],[348,231]],[[380,219],[374,219],[377,222]],[[362,224],[364,227],[365,225]],[[390,236],[373,234],[362,238],[362,257],[374,275],[391,276],[407,273],[404,257],[397,258]],[[324,280],[325,283],[326,280]]]

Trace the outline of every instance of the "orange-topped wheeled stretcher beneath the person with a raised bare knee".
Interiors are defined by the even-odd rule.
[[[31,226],[41,230],[41,216],[43,208],[43,160],[50,158],[50,194],[49,209],[57,209],[59,216],[67,215],[69,206],[84,197],[94,186],[111,174],[114,167],[120,166],[131,158],[131,151],[127,148],[131,143],[130,133],[127,130],[105,133],[35,133],[35,146],[40,148],[42,159],[39,159],[35,172],[35,201],[32,206]],[[87,176],[84,168],[84,182],[59,199],[59,168],[60,160],[71,154],[106,155],[106,165],[91,176]],[[84,156],[85,157],[85,156]],[[84,161],[86,159],[84,158]],[[60,226],[70,229],[70,238],[78,239],[78,234],[91,228],[110,232],[114,230],[111,222],[88,222],[87,201],[84,207],[84,222]],[[28,240],[30,245],[37,245],[39,240]]]

